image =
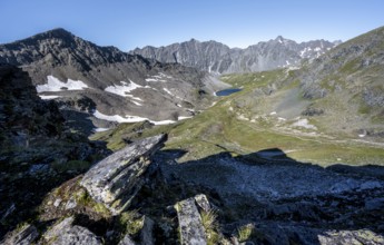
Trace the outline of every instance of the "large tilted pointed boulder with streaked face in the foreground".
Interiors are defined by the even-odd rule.
[[[164,146],[166,135],[138,140],[96,164],[81,185],[114,214],[129,206],[145,182],[149,156]]]

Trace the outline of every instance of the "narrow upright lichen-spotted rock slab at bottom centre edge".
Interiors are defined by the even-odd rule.
[[[177,217],[180,228],[181,244],[207,244],[200,214],[197,210],[195,199],[188,198],[176,204]]]

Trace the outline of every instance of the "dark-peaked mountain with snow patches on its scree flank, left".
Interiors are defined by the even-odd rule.
[[[43,98],[71,109],[87,100],[93,106],[86,112],[97,110],[99,118],[119,122],[193,116],[210,105],[209,94],[224,86],[197,69],[99,47],[63,29],[1,45],[0,62],[28,71],[33,85],[42,86]]]

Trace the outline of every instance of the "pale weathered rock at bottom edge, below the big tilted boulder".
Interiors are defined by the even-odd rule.
[[[68,217],[51,227],[43,236],[47,242],[58,245],[101,245],[101,239],[89,229],[72,225],[73,217]]]

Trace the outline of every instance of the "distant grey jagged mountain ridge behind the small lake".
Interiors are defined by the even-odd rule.
[[[326,40],[297,43],[278,36],[274,40],[239,49],[229,48],[217,41],[200,42],[191,39],[159,48],[151,46],[136,48],[130,53],[160,62],[178,62],[214,74],[236,74],[299,66],[303,59],[317,58],[338,43],[339,41]]]

